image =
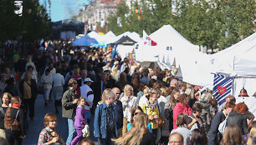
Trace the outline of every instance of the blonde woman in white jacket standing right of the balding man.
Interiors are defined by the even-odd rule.
[[[131,108],[136,107],[138,104],[137,97],[133,96],[133,87],[131,85],[125,85],[124,97],[121,97],[120,102],[122,102],[124,112],[122,133],[125,134],[127,132],[127,123],[131,122]]]

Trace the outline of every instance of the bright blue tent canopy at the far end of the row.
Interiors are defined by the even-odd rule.
[[[94,46],[95,44],[98,44],[97,40],[95,38],[89,37],[88,35],[85,35],[84,37],[80,37],[79,39],[74,40],[72,42],[73,46],[84,46],[84,47],[90,47]]]

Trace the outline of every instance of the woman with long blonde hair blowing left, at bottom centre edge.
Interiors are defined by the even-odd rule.
[[[149,132],[148,123],[148,116],[144,112],[139,112],[129,132],[125,133],[121,138],[113,139],[113,141],[115,144],[122,145],[155,145],[156,138]]]

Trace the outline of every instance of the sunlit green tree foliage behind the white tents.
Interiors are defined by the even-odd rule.
[[[120,3],[108,27],[141,34],[170,24],[194,44],[225,48],[255,32],[255,11],[255,0],[140,0]]]

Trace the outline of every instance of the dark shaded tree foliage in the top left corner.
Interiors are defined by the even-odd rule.
[[[14,1],[0,0],[0,42],[33,42],[51,35],[52,23],[45,7],[38,1],[23,1],[23,15],[14,13]]]

